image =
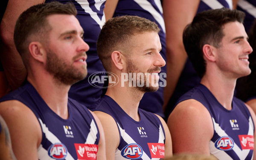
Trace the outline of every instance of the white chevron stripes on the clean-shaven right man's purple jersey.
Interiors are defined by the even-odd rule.
[[[213,125],[214,125],[215,132],[217,132],[220,137],[228,136],[227,133],[223,129],[221,129],[219,124],[217,124],[215,122],[214,118],[212,118],[212,122],[213,122]],[[253,120],[252,120],[251,117],[249,118],[248,135],[253,135]],[[209,148],[210,148],[210,153],[213,154],[218,159],[233,160],[226,152],[217,149],[215,147],[215,142],[210,141],[209,142]],[[233,150],[237,153],[237,155],[239,156],[240,160],[244,160],[247,157],[247,154],[250,152],[249,149],[241,150],[239,148],[239,146],[237,146],[236,143],[234,143]]]

